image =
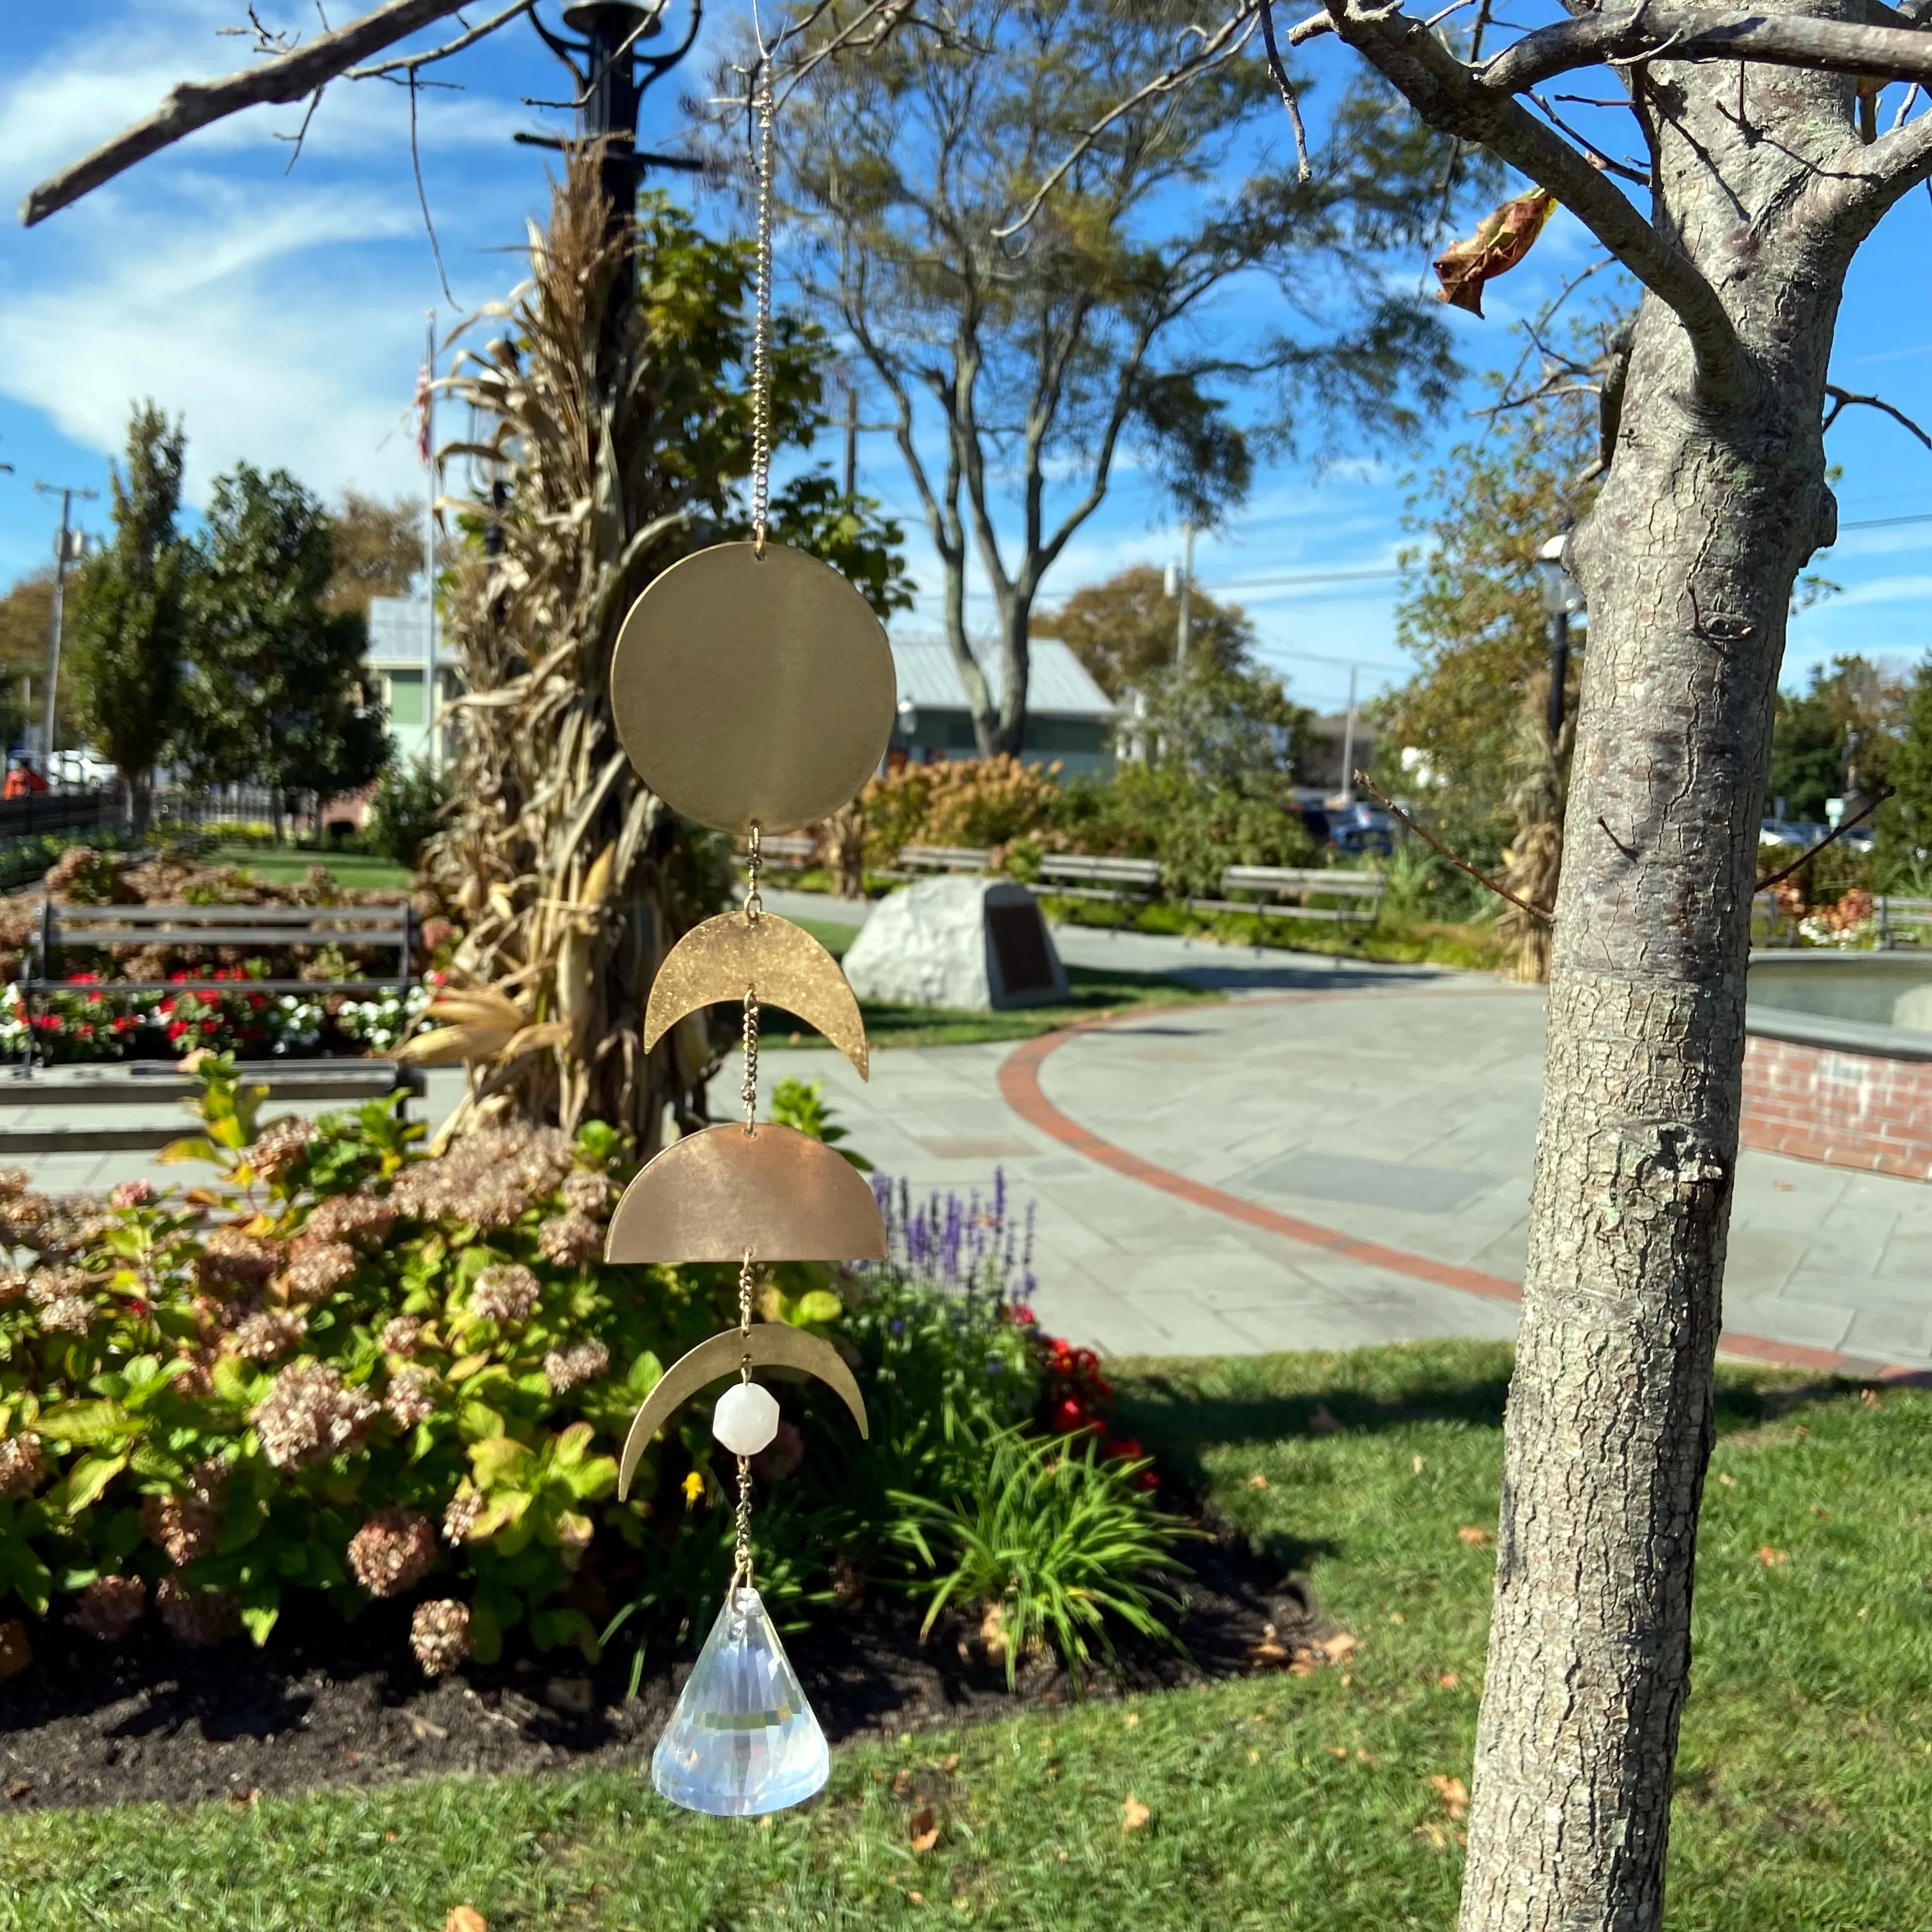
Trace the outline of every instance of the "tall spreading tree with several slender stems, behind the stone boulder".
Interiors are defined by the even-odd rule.
[[[966,0],[947,19],[815,60],[850,33],[815,12],[786,54],[815,64],[781,158],[806,284],[895,421],[943,564],[980,750],[1016,752],[1034,603],[1117,462],[1213,522],[1258,448],[1339,419],[1405,435],[1445,400],[1439,313],[1383,270],[1468,176],[1379,81],[1329,104],[1302,176],[1271,139],[1258,43],[1142,91],[1200,31],[1169,0]],[[993,593],[997,701],[968,558]]]

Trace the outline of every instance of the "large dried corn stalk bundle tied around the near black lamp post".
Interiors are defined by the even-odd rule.
[[[665,216],[641,245],[612,240],[595,153],[572,155],[549,226],[531,226],[527,280],[464,325],[500,325],[495,340],[462,350],[442,384],[493,425],[444,462],[508,479],[500,502],[452,504],[491,539],[448,591],[469,690],[452,813],[423,864],[464,939],[435,1030],[404,1047],[415,1065],[469,1068],[446,1134],[599,1119],[647,1155],[667,1109],[701,1119],[717,1061],[701,1016],[641,1049],[659,960],[719,910],[728,869],[638,781],[609,696],[632,599],[703,541],[744,468],[744,404],[717,381],[728,352],[703,290],[680,280],[684,234]],[[632,247],[641,294],[612,319]]]

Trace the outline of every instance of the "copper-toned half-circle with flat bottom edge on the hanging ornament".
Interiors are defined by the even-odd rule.
[[[761,1121],[674,1140],[611,1215],[607,1262],[883,1262],[866,1177],[823,1140]]]

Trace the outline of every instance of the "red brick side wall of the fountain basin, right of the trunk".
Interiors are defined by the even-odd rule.
[[[1745,1146],[1932,1180],[1932,1061],[1745,1043]]]

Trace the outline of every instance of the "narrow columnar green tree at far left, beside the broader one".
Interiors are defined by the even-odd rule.
[[[112,471],[114,541],[79,574],[73,688],[81,724],[128,784],[147,831],[155,767],[182,715],[182,651],[193,551],[176,535],[187,439],[153,402],[128,419],[128,468]]]

